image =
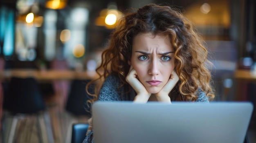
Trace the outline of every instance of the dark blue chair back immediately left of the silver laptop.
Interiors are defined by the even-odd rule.
[[[71,143],[82,143],[88,130],[88,123],[74,123],[72,125]]]

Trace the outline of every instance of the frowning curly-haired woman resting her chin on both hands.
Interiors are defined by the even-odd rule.
[[[89,102],[209,102],[214,98],[209,64],[189,20],[169,6],[148,4],[124,15],[112,33],[97,68],[104,82]],[[84,140],[89,142],[92,126]]]

